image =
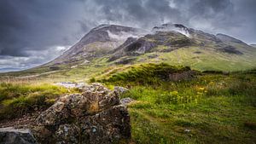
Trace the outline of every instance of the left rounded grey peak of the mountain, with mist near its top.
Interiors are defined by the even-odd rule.
[[[124,43],[128,37],[142,37],[146,31],[138,28],[101,25],[87,33],[79,43],[55,59],[53,64],[92,60],[108,53]]]

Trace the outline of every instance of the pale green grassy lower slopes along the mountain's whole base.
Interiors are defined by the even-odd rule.
[[[238,46],[237,46],[238,47]],[[240,46],[241,47],[241,46]],[[239,47],[239,48],[240,48]],[[160,46],[155,49],[168,49],[164,46]],[[244,71],[255,68],[256,63],[256,49],[241,48],[244,55],[232,55],[214,50],[211,45],[205,48],[199,47],[186,47],[181,49],[175,49],[171,52],[151,52],[145,55],[139,55],[135,61],[131,62],[131,65],[142,63],[160,63],[166,62],[172,66],[190,66],[192,69],[199,71],[215,70],[225,72]],[[159,50],[160,51],[160,50]],[[198,54],[200,52],[200,54]],[[152,55],[157,55],[153,56]],[[37,78],[43,78],[56,81],[86,81],[91,77],[98,77],[102,72],[107,72],[113,69],[120,69],[125,67],[123,65],[115,65],[114,62],[108,62],[108,55],[102,58],[96,58],[91,60],[89,64],[80,65],[84,60],[68,64],[58,65],[61,69],[53,73],[50,72],[49,67],[39,66],[30,70],[22,72],[9,72],[1,73],[0,80],[9,76],[31,76],[38,73],[44,73]],[[76,66],[71,68],[72,66]],[[59,80],[58,80],[59,79]]]

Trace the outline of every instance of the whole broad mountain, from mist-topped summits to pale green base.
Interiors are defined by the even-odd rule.
[[[22,72],[55,72],[58,77],[97,77],[125,66],[165,62],[199,71],[243,71],[255,68],[256,49],[224,34],[213,35],[181,24],[152,30],[116,25],[93,28],[63,55]]]

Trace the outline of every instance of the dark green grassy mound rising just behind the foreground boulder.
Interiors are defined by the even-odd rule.
[[[169,74],[175,72],[189,71],[189,67],[170,66],[166,63],[160,64],[143,64],[138,66],[131,66],[124,72],[116,72],[108,78],[98,80],[103,83],[114,84],[160,84],[169,78]],[[91,79],[95,80],[95,79]]]

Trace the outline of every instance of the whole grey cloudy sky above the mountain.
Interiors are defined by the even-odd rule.
[[[256,43],[256,0],[1,0],[0,72],[53,60],[101,24],[169,22]]]

